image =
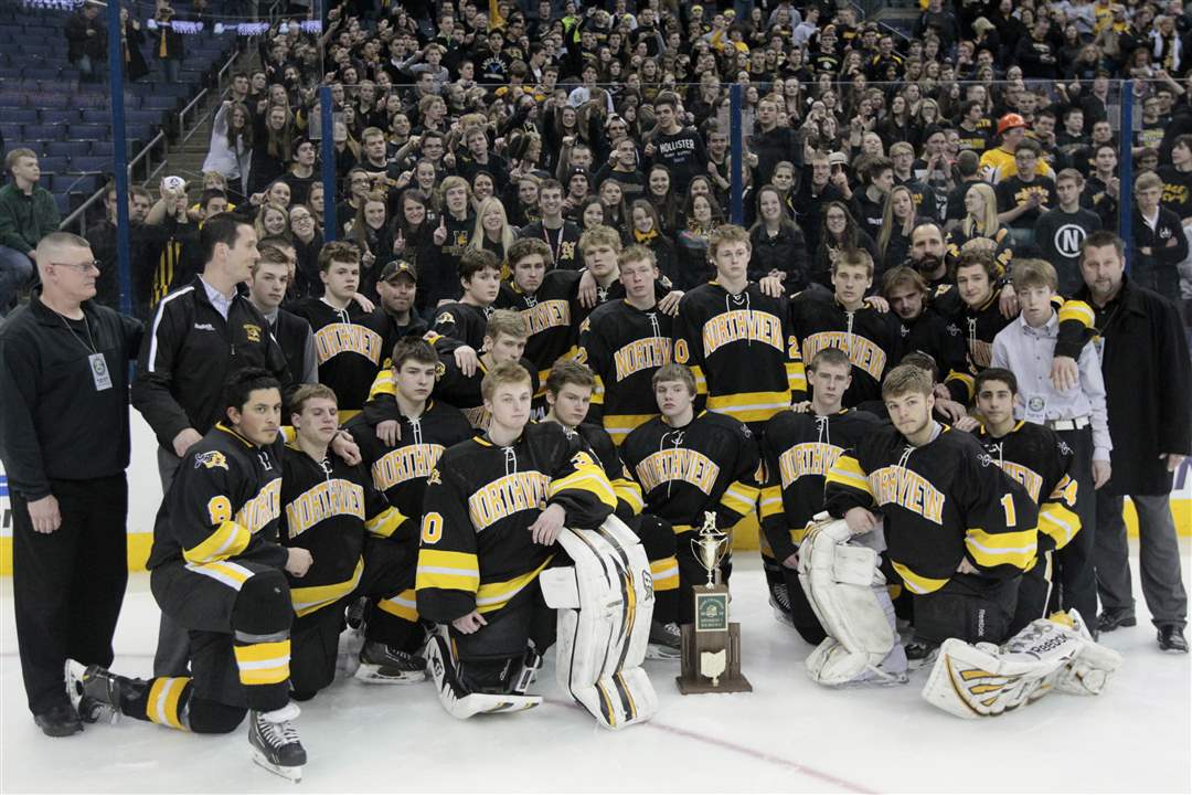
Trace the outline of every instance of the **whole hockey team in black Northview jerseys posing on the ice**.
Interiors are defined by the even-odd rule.
[[[268,272],[250,234],[209,219],[219,273],[246,246],[250,273],[230,278]],[[949,259],[962,284],[930,294],[900,268],[889,303],[875,297],[871,257],[849,250],[832,290],[786,296],[749,279],[751,249],[744,229],[718,228],[715,275],[685,294],[604,226],[578,241],[583,271],[538,238],[505,262],[468,250],[461,300],[427,328],[408,311],[414,266],[379,271],[404,313],[366,311],[359,251],[328,243],[323,297],[294,308],[313,333],[306,384],[291,377],[310,348],[287,344],[235,281],[231,299],[212,287],[215,266],[206,294],[167,297],[138,384],[180,366],[163,335],[205,322],[175,319],[185,303],[226,329],[211,306],[231,300],[247,334],[209,429],[179,409],[159,433],[163,446],[195,434],[175,445],[148,564],[162,642],[167,622],[180,628],[187,664],[136,679],[69,662],[81,720],[226,733],[248,715],[254,759],[298,778],[298,703],[334,681],[344,647],[364,682],[429,671],[467,718],[539,703],[529,687],[554,644],[601,725],[647,720],[640,664],[676,664],[707,511],[725,530],[757,517],[769,600],[814,646],[818,683],[905,683],[931,666],[924,696],[962,716],[1099,692],[1120,659],[1093,639],[1079,551],[1103,473],[1022,404],[998,344],[999,296],[1017,291],[1026,321],[1054,329],[1055,372],[1101,434],[1089,308],[1056,294],[1045,262],[1010,274],[971,249]],[[944,318],[938,333],[909,335],[926,315]],[[268,355],[237,361],[238,344]],[[731,570],[730,557],[725,582]]]

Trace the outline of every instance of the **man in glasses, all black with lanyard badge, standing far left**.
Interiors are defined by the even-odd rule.
[[[68,656],[111,665],[128,582],[129,360],[141,322],[94,303],[87,241],[43,237],[42,286],[0,325],[0,461],[13,511],[13,604],[30,712],[82,731]]]

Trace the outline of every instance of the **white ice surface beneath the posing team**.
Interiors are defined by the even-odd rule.
[[[1188,546],[1181,546],[1188,583]],[[737,555],[733,620],[741,622],[752,694],[681,696],[677,663],[647,662],[657,718],[623,732],[596,727],[554,683],[538,709],[448,716],[429,684],[337,681],[303,704],[305,791],[974,791],[1141,793],[1192,789],[1190,659],[1140,623],[1104,636],[1125,665],[1097,698],[1053,694],[1022,712],[964,721],[909,684],[833,691],[808,681],[809,647],[777,625],[756,553]],[[1137,588],[1137,578],[1136,578]],[[0,791],[300,791],[249,762],[246,727],[197,737],[125,719],[81,735],[42,735],[25,706],[12,615],[0,584]],[[157,608],[135,574],[116,635],[116,664],[150,672]]]

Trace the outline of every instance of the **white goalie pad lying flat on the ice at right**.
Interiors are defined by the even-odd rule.
[[[960,718],[992,718],[1051,690],[1097,695],[1122,656],[1095,642],[1080,614],[1032,621],[1000,648],[945,640],[923,697]]]

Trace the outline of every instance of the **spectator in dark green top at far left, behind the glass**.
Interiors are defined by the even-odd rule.
[[[58,228],[54,197],[37,181],[42,169],[32,149],[13,149],[4,159],[12,176],[0,187],[0,317],[33,275],[37,243]]]

